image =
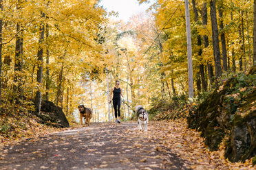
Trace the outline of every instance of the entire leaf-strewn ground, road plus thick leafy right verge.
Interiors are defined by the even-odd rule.
[[[255,169],[231,163],[224,149],[209,151],[183,119],[91,123],[0,145],[0,169]]]

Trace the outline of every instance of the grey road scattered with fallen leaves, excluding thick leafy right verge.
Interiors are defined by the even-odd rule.
[[[134,121],[91,123],[0,149],[0,169],[187,169]]]

